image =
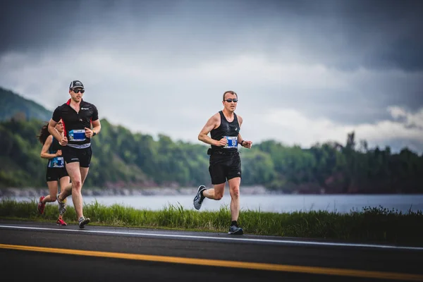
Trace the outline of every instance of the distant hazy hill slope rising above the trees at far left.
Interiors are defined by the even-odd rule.
[[[43,106],[0,87],[0,121],[11,118],[20,120],[36,118],[40,121],[49,121],[51,114],[51,111]]]

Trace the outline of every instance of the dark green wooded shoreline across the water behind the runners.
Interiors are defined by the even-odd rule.
[[[24,100],[22,100],[24,101]],[[49,116],[50,117],[50,116]],[[45,187],[47,161],[36,135],[49,118],[0,122],[0,188]],[[102,119],[92,139],[92,165],[85,187],[142,188],[210,185],[207,146],[132,133]],[[240,148],[243,185],[299,193],[421,193],[423,155],[407,148],[357,149],[355,134],[310,148],[274,140]]]

